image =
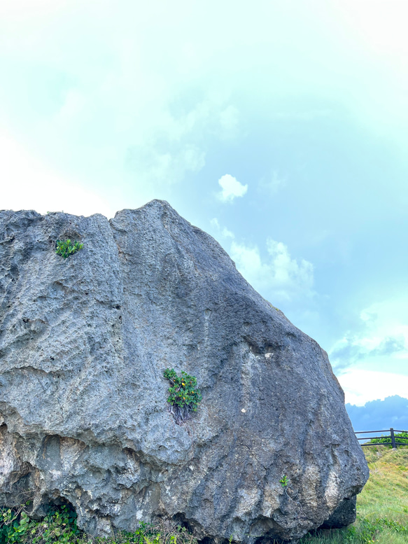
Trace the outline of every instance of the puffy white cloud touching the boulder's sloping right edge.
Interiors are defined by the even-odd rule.
[[[258,246],[232,242],[230,255],[248,282],[272,302],[313,295],[313,265],[291,258],[282,242],[267,239],[269,258],[262,260]]]

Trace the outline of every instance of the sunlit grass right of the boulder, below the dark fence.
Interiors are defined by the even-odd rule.
[[[319,529],[299,544],[406,544],[408,542],[408,448],[364,448],[370,478],[357,496],[356,522]]]

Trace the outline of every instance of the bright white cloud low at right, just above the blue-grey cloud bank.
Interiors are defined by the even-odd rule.
[[[408,376],[351,368],[337,376],[344,389],[346,403],[363,406],[370,400],[399,395],[407,397]]]

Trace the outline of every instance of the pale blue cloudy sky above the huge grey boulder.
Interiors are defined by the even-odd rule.
[[[167,200],[346,403],[408,398],[405,21],[406,0],[2,2],[0,209]]]

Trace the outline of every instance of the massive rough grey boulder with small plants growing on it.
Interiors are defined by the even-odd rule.
[[[0,225],[0,503],[69,501],[94,535],[165,517],[216,543],[342,517],[368,470],[328,356],[214,239],[157,200]],[[64,259],[66,238],[83,249]],[[185,426],[165,368],[202,391]]]

